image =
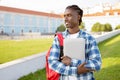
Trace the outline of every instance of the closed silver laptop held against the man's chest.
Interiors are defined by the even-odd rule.
[[[85,39],[66,38],[64,39],[64,55],[74,59],[85,60]]]

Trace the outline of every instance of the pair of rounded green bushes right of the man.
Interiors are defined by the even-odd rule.
[[[91,29],[92,32],[107,32],[112,31],[112,26],[109,23],[100,24],[99,22],[95,23]]]

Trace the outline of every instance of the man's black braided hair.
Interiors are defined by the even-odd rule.
[[[83,10],[81,8],[79,8],[77,5],[70,5],[70,6],[67,6],[66,9],[72,9],[72,10],[75,10],[80,16],[80,20],[79,20],[79,25],[81,24],[82,22],[82,16],[83,16]]]

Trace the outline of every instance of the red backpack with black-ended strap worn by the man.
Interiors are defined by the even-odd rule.
[[[60,43],[60,57],[62,57],[63,56],[63,36],[62,36],[62,33],[56,33],[55,36],[58,36],[58,40]],[[60,74],[49,68],[48,57],[50,55],[50,50],[51,50],[51,48],[48,50],[48,52],[46,54],[46,78],[47,78],[46,80],[59,80]],[[61,61],[60,57],[59,57],[59,61]]]

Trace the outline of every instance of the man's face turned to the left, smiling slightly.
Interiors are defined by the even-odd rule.
[[[79,26],[80,15],[75,10],[66,9],[64,12],[64,21],[66,28],[74,28]]]

